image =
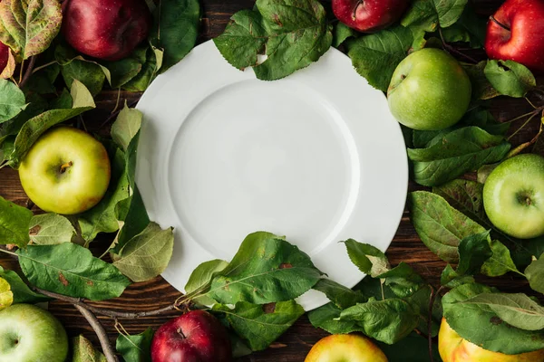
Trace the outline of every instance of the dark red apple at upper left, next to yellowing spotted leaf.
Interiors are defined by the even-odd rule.
[[[151,12],[145,0],[65,0],[63,34],[79,52],[118,61],[145,40]]]

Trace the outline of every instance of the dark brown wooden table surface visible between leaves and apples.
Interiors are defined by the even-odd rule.
[[[241,9],[251,8],[255,1],[253,0],[200,0],[203,5],[202,27],[200,31],[199,43],[205,42],[221,33],[228,23],[229,17]],[[500,0],[477,0],[475,5],[479,14],[489,15],[499,5]],[[539,81],[544,81],[540,77]],[[138,94],[123,93],[122,98],[131,101],[137,100]],[[100,134],[108,134],[111,125],[102,128],[103,121],[108,118],[110,112],[115,106],[117,92],[105,91],[97,97],[97,110],[92,110],[84,114],[84,121],[88,129]],[[499,120],[512,119],[515,116],[528,112],[529,104],[521,100],[496,99],[490,103],[491,112]],[[519,123],[517,123],[519,124]],[[515,142],[530,139],[536,132],[538,124],[533,124],[528,129],[520,132]],[[417,186],[411,184],[411,190]],[[0,170],[0,195],[18,205],[25,205],[27,197],[20,186],[17,172],[8,167]],[[36,211],[36,210],[34,210]],[[102,249],[110,244],[111,235],[101,235],[96,243],[92,243],[92,248]],[[403,214],[402,222],[394,236],[393,243],[387,251],[387,256],[393,265],[399,262],[408,262],[413,265],[416,271],[419,271],[433,285],[439,284],[440,273],[445,266],[432,252],[430,252],[421,242],[417,233],[415,233],[409,220],[407,211]],[[9,259],[5,254],[0,254],[0,264],[7,269],[16,269],[17,262]],[[502,291],[524,291],[528,292],[528,283],[519,278],[507,275],[500,279],[489,279],[484,282],[494,285]],[[170,284],[158,277],[152,281],[142,282],[131,285],[120,298],[107,300],[101,303],[92,303],[112,310],[123,311],[141,311],[155,310],[172,303],[179,296],[179,292],[170,286]],[[73,308],[71,304],[54,301],[50,303],[50,310],[58,317],[66,327],[70,335],[83,333],[90,338],[95,346],[99,346],[98,340],[91,327],[83,319],[81,314]],[[147,327],[157,329],[162,323],[175,316],[177,312],[166,314],[160,318],[141,318],[121,320],[122,326],[131,334],[141,333]],[[107,329],[112,343],[118,336],[114,328],[113,320],[108,317],[100,317],[104,327]],[[277,340],[270,348],[265,351],[255,353],[249,357],[242,358],[242,361],[259,362],[300,362],[304,360],[307,352],[312,345],[319,339],[325,337],[323,330],[315,329],[306,319],[306,316],[296,322],[296,325],[289,329],[285,335]],[[422,357],[424,358],[426,357]],[[15,361],[14,361],[15,362]]]

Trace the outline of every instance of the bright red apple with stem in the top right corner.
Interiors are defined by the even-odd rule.
[[[485,39],[491,59],[544,71],[544,0],[507,0],[491,16]]]

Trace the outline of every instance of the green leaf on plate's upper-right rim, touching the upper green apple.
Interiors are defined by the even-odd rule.
[[[413,34],[399,25],[346,44],[355,70],[374,88],[387,91],[393,71],[412,48]]]

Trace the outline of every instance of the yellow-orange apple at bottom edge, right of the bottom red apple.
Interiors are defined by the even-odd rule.
[[[305,362],[387,362],[384,352],[356,334],[334,334],[319,340]]]

